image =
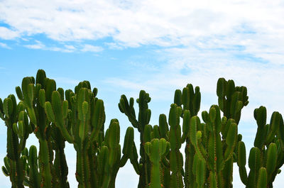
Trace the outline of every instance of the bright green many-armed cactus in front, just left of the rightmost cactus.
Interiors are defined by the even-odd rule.
[[[225,176],[230,175],[230,169],[226,169],[225,163],[232,160],[234,148],[237,143],[237,126],[233,119],[221,118],[217,105],[213,105],[209,114],[202,112],[203,121],[206,123],[208,143],[205,144],[207,153],[207,167],[209,170],[210,187],[229,187],[232,179],[226,181]],[[196,121],[199,122],[199,121]],[[197,125],[198,126],[198,125]],[[222,133],[226,126],[227,132]],[[220,133],[222,133],[222,138]],[[232,164],[232,162],[231,162]]]

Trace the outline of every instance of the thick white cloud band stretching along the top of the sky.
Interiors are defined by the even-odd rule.
[[[6,33],[1,38],[38,33],[69,41],[112,37],[116,43],[134,47],[190,45],[192,39],[236,32],[258,34],[265,41],[283,40],[281,1],[45,0],[35,4],[5,0],[1,4],[0,19],[14,28],[1,27],[5,32],[0,33]]]

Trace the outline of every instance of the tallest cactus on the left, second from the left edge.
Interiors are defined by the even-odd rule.
[[[16,87],[18,99],[23,102],[28,111],[31,129],[39,140],[40,186],[50,188],[69,187],[64,154],[65,139],[62,138],[60,131],[56,131],[53,121],[50,121],[45,114],[45,104],[50,103],[55,90],[55,81],[48,79],[43,70],[38,70],[36,79],[24,77],[21,87]],[[58,91],[62,89],[58,88]],[[53,159],[53,148],[56,148],[55,160]]]

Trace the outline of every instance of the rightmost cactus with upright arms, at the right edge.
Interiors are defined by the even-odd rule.
[[[254,110],[258,125],[254,148],[249,153],[249,176],[246,173],[246,148],[241,140],[238,143],[238,166],[241,181],[246,187],[273,187],[275,176],[284,164],[281,130],[283,118],[274,111],[270,124],[266,124],[266,107]]]

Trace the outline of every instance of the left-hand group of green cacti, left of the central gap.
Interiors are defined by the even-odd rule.
[[[38,70],[36,78],[25,77],[16,87],[16,98],[0,100],[0,116],[7,126],[7,155],[2,170],[12,187],[70,187],[65,158],[65,141],[77,152],[78,187],[115,187],[119,167],[129,159],[133,128],[126,132],[123,156],[119,145],[120,127],[112,119],[104,132],[104,102],[89,82],[75,91],[56,88],[55,80]],[[28,149],[26,139],[35,133],[39,152]]]

